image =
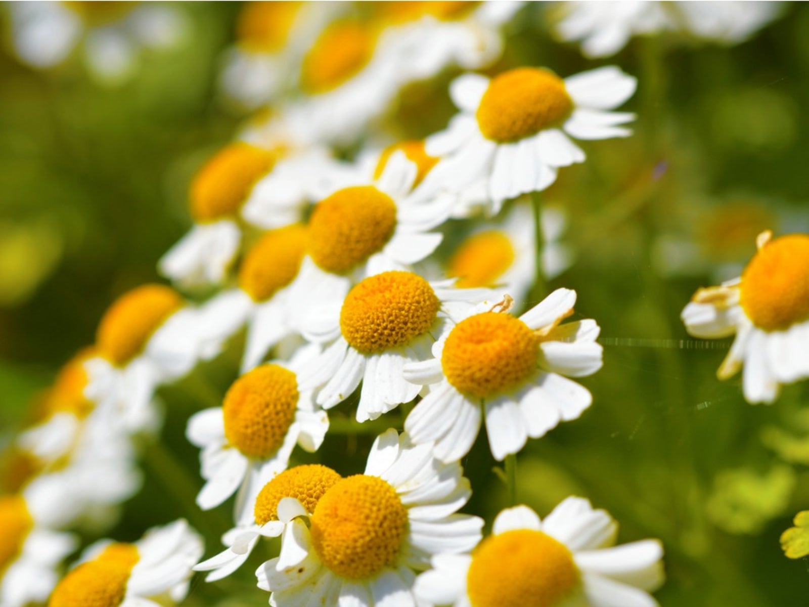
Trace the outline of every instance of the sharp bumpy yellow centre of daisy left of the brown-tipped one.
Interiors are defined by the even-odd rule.
[[[430,329],[439,305],[433,287],[421,276],[384,272],[349,291],[340,311],[340,329],[358,352],[379,354]]]

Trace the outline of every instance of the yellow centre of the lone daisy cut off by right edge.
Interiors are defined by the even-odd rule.
[[[781,236],[760,248],[742,272],[741,304],[765,331],[809,320],[809,236]]]

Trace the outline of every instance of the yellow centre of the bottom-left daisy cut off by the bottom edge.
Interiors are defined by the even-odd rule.
[[[48,607],[118,607],[139,559],[135,545],[109,545],[97,558],[79,565],[61,580]]]

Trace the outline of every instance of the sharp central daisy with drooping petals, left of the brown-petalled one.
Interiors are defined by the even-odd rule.
[[[325,346],[318,364],[325,383],[318,404],[332,408],[360,382],[358,422],[412,401],[421,386],[404,380],[404,365],[429,359],[447,318],[463,317],[491,297],[486,289],[456,289],[453,282],[427,282],[413,272],[393,270],[364,278],[345,299],[313,308],[303,336]]]

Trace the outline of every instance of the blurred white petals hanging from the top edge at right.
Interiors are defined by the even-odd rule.
[[[587,57],[608,57],[633,36],[680,32],[735,45],[775,19],[781,2],[564,2],[554,32],[580,41]]]

